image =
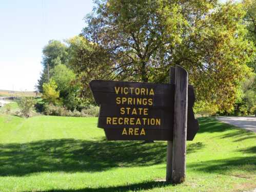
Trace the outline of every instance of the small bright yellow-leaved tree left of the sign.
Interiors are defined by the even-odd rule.
[[[43,84],[43,96],[42,98],[48,103],[57,104],[60,97],[60,91],[57,91],[57,84],[53,79],[50,79],[48,83]]]

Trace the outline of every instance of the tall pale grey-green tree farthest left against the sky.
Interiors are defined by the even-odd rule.
[[[43,48],[43,72],[37,81],[36,88],[39,92],[43,92],[43,84],[49,82],[52,74],[51,70],[59,64],[67,65],[68,48],[65,44],[58,40],[50,40],[48,45]]]

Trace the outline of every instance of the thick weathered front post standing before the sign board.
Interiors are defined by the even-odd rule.
[[[188,73],[175,67],[174,126],[172,149],[172,183],[182,183],[186,178],[186,138],[188,109]]]

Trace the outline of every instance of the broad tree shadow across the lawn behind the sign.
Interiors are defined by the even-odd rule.
[[[203,148],[187,146],[187,154]],[[149,166],[166,161],[166,142],[52,139],[0,144],[0,176],[37,172],[96,172],[112,167]]]

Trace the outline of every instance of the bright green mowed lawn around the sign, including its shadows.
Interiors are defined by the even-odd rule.
[[[256,134],[200,118],[183,184],[163,182],[166,142],[106,141],[97,118],[0,115],[0,191],[243,191]]]

